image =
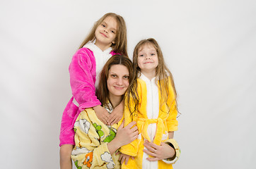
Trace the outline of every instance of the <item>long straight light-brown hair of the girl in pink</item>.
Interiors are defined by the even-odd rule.
[[[79,46],[79,49],[82,48],[89,41],[95,40],[96,38],[95,30],[101,23],[103,23],[103,20],[105,20],[107,16],[115,18],[115,20],[117,21],[117,34],[115,37],[115,44],[111,44],[112,50],[115,51],[117,54],[123,54],[124,56],[128,56],[126,24],[124,22],[124,18],[122,18],[122,16],[120,15],[117,15],[116,13],[105,13],[103,17],[101,17],[98,21],[96,21],[95,24],[93,25],[93,28],[91,29],[91,32],[89,32],[86,39],[84,39],[82,44]]]

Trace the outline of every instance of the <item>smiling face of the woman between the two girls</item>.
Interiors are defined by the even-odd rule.
[[[107,89],[110,99],[113,96],[122,96],[129,86],[129,70],[124,65],[112,65],[107,77]]]

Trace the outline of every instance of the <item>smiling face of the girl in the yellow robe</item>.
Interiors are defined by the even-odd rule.
[[[138,65],[143,74],[156,73],[158,54],[152,44],[144,44],[141,46],[138,52]]]

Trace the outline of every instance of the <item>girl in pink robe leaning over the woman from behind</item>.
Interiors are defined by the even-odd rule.
[[[106,13],[93,26],[69,65],[72,97],[62,115],[60,140],[60,167],[72,168],[71,151],[74,142],[74,123],[85,108],[93,108],[103,123],[105,108],[95,96],[95,84],[105,62],[115,54],[127,56],[127,30],[122,16]],[[128,56],[127,56],[128,57]],[[123,104],[117,106],[112,117],[116,122],[122,118]],[[115,110],[115,109],[114,109]],[[106,111],[107,113],[107,111]],[[107,113],[108,114],[108,113]]]

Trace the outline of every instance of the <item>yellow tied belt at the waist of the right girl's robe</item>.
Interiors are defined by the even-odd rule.
[[[151,139],[149,138],[148,134],[148,127],[149,124],[156,123],[156,135],[153,139],[153,143],[160,145],[163,137],[164,132],[164,124],[162,118],[153,118],[153,119],[146,119],[146,118],[138,118],[137,120],[138,125],[141,126],[141,134],[144,139],[147,139],[149,142],[151,142]]]

